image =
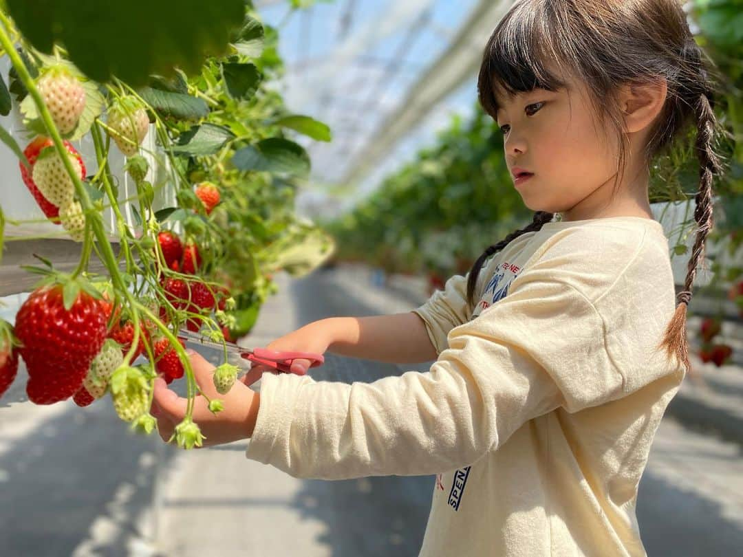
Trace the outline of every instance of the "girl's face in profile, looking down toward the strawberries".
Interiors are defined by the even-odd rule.
[[[515,97],[496,89],[506,164],[529,209],[562,212],[565,221],[607,216],[618,137],[598,123],[585,86],[563,80],[566,87],[557,91],[534,89]],[[531,176],[519,178],[519,172]]]

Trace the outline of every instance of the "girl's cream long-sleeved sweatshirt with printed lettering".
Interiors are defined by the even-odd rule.
[[[247,458],[296,478],[436,474],[421,556],[644,556],[637,486],[687,370],[657,221],[559,221],[415,313],[438,359],[371,382],[264,374]]]

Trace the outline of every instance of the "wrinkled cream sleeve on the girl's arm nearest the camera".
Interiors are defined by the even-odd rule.
[[[574,412],[621,397],[605,336],[594,305],[535,266],[509,296],[452,328],[425,373],[351,385],[264,374],[246,456],[301,478],[466,466],[554,408]]]

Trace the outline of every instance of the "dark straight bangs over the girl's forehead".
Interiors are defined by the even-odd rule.
[[[514,4],[485,47],[477,84],[478,98],[493,120],[500,108],[499,97],[510,98],[536,88],[557,91],[565,86],[565,82],[547,68],[547,62],[559,68],[559,59],[564,59],[556,52],[554,23],[548,22],[549,2],[542,2],[539,7],[535,4]]]

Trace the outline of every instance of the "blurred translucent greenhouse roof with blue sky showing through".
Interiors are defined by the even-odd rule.
[[[452,114],[469,114],[484,43],[510,3],[335,0],[297,11],[256,2],[279,28],[288,108],[333,132],[331,143],[301,142],[314,182],[323,191],[351,186],[348,205],[432,143]],[[305,192],[302,201],[309,212],[328,210],[326,193]]]

